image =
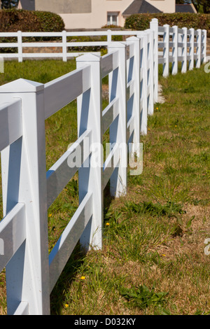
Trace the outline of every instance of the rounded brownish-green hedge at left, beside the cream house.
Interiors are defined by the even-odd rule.
[[[57,32],[64,27],[62,18],[48,11],[0,10],[0,32]]]

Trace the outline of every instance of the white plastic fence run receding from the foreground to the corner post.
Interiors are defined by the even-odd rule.
[[[110,181],[111,195],[126,193],[127,146],[139,158],[140,135],[158,102],[157,26],[153,20],[151,29],[109,43],[103,57],[78,57],[75,71],[45,85],[19,79],[0,87],[0,270],[6,267],[8,314],[50,314],[50,292],[78,240],[102,248],[104,188]],[[107,75],[109,105],[102,111]],[[78,139],[46,172],[45,119],[73,99]],[[108,129],[112,147],[104,161]],[[71,161],[77,151],[79,168]],[[79,206],[49,255],[48,208],[77,170]]]

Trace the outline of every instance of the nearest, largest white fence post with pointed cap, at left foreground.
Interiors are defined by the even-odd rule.
[[[0,87],[2,102],[22,100],[22,138],[1,153],[4,215],[25,204],[26,240],[6,265],[8,314],[50,314],[44,85],[19,79]],[[20,307],[21,309],[21,307]]]

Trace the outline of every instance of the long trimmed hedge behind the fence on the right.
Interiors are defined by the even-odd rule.
[[[156,13],[156,14],[137,14],[130,15],[125,20],[126,29],[144,30],[149,29],[150,22],[153,18],[158,18],[160,26],[168,24],[170,26],[187,27],[188,29],[207,29],[210,37],[210,14],[196,13]]]

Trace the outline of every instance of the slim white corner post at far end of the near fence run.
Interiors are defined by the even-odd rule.
[[[158,19],[153,18],[150,23],[151,30],[154,32],[153,38],[153,61],[154,61],[154,102],[158,102]]]

